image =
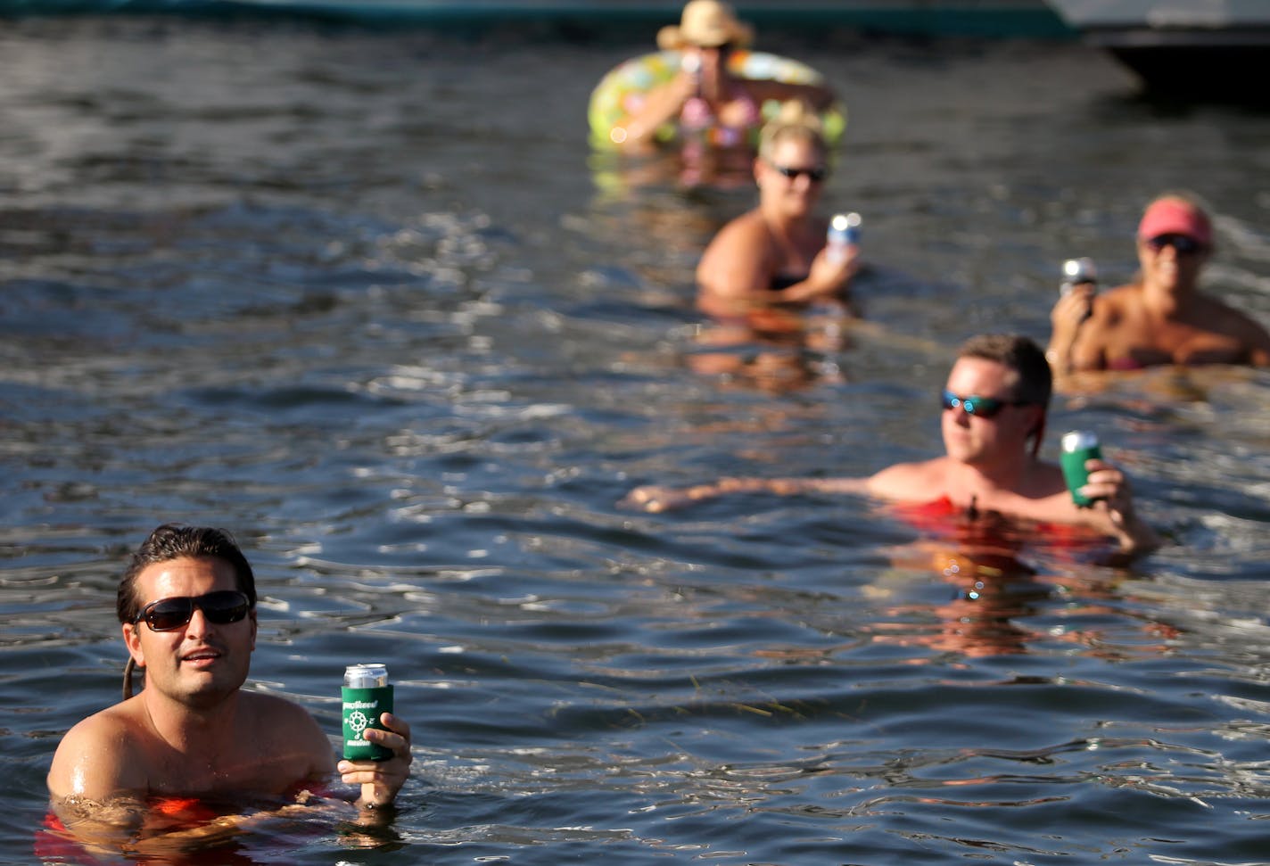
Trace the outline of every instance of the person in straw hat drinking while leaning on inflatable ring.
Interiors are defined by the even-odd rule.
[[[729,52],[748,47],[753,38],[753,28],[738,20],[726,3],[690,0],[679,23],[657,34],[662,51],[681,52],[679,71],[615,124],[612,140],[627,149],[648,147],[659,127],[677,121],[681,128],[710,131],[714,146],[748,147],[768,99],[801,99],[817,110],[829,108],[833,93],[828,88],[732,75]]]

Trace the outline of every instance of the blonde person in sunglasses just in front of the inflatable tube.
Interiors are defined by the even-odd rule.
[[[826,250],[828,220],[815,207],[829,174],[812,107],[786,103],[763,127],[753,165],[758,207],[725,225],[697,265],[698,306],[715,316],[754,309],[846,301],[859,250]]]

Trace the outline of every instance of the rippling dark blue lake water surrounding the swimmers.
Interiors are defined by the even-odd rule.
[[[1270,116],[1072,43],[762,44],[848,105],[824,206],[865,217],[870,324],[718,372],[692,268],[752,190],[588,150],[650,43],[0,23],[0,861],[117,700],[122,563],[184,521],[257,568],[253,688],[334,742],[384,660],[415,731],[386,838],[198,862],[1270,862],[1266,372],[1055,400],[1045,453],[1099,430],[1171,538],[1128,570],[852,498],[617,505],[932,456],[954,348],[1044,340],[1068,256],[1128,278],[1163,189],[1270,321]]]

